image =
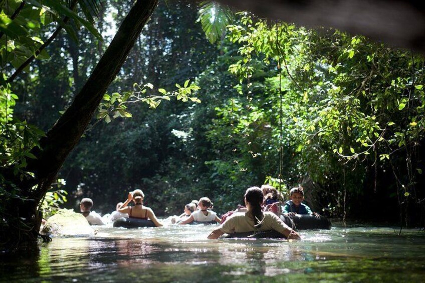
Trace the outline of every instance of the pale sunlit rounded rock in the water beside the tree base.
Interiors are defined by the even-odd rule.
[[[75,213],[72,209],[59,210],[47,220],[42,232],[66,236],[93,235],[95,233],[86,217]]]

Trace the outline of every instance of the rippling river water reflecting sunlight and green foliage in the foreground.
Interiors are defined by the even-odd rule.
[[[417,229],[334,224],[302,240],[208,240],[216,225],[99,227],[54,237],[36,254],[2,255],[1,281],[25,282],[425,282]]]

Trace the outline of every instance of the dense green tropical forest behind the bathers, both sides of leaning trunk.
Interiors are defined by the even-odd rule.
[[[4,19],[22,3],[9,2]],[[13,80],[56,26],[31,8],[18,18],[25,39],[2,35],[2,169],[31,175],[33,148],[133,5],[102,3],[93,25],[67,24]],[[423,225],[424,62],[361,35],[160,2],[47,199],[91,197],[107,213],[141,188],[159,215],[202,196],[226,212],[249,186],[301,184],[321,214]],[[1,182],[2,201],[20,197]]]

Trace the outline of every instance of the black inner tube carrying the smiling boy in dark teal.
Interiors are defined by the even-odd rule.
[[[287,224],[289,227],[294,227],[296,230],[330,230],[332,227],[331,221],[325,216],[321,215],[282,214],[280,219],[282,219],[282,221],[285,222],[285,224]]]

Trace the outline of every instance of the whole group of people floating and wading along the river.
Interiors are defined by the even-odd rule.
[[[120,202],[116,206],[116,211],[106,217],[101,217],[95,211],[91,211],[93,201],[90,198],[83,198],[80,202],[80,211],[91,225],[104,225],[107,222],[114,222],[122,217],[151,220],[156,227],[163,226],[150,207],[143,205],[145,195],[142,190],[136,189],[128,193],[125,202]],[[236,210],[229,211],[219,217],[212,211],[213,203],[208,197],[201,197],[199,200],[192,200],[183,208],[183,213],[167,218],[172,224],[184,225],[192,222],[196,223],[219,223],[220,226],[214,229],[209,235],[209,239],[217,239],[223,234],[242,233],[251,231],[275,230],[283,234],[288,239],[300,239],[300,235],[284,221],[280,213],[280,203],[284,199],[283,195],[270,185],[250,187],[244,195],[244,205],[239,205]],[[315,214],[310,207],[302,203],[304,192],[301,186],[292,188],[289,192],[289,200],[283,207],[283,214]],[[133,202],[132,206],[129,204]]]

